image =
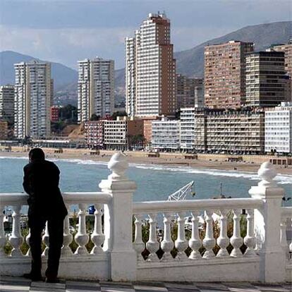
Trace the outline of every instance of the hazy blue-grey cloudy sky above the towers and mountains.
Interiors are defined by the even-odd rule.
[[[157,11],[171,19],[171,41],[181,51],[247,25],[291,20],[292,1],[0,0],[0,51],[72,68],[101,56],[122,68],[124,38]]]

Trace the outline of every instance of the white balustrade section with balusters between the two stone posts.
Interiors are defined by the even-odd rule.
[[[253,212],[254,209],[262,208],[262,205],[262,200],[253,198],[135,202],[133,203],[133,216],[135,217],[133,246],[138,254],[138,262],[256,256]],[[243,209],[247,210],[247,215],[241,215]],[[228,236],[227,229],[228,212],[233,221],[232,224],[229,222],[232,229],[231,238]],[[160,240],[157,232],[159,229],[157,216],[159,215],[163,216],[163,236],[160,236]],[[186,217],[186,215],[188,216]],[[244,238],[241,237],[243,230],[240,225],[243,216],[246,217]],[[189,224],[190,218],[191,224]],[[214,238],[214,229],[219,230],[217,238]],[[142,241],[142,238],[145,237],[142,236],[142,232],[149,233],[146,243]],[[186,236],[186,232],[188,236]],[[243,243],[245,244],[244,253],[241,251]],[[216,255],[215,246],[217,246]],[[230,254],[227,247],[229,250],[232,249]],[[160,254],[163,253],[160,259],[157,256],[159,250],[161,250]],[[144,257],[141,257],[142,253]],[[147,253],[149,255],[146,256]]]

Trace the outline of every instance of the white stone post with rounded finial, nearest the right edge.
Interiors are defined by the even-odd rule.
[[[281,200],[284,195],[274,181],[276,171],[269,162],[264,162],[257,171],[260,183],[250,188],[253,198],[262,199],[262,209],[255,209],[256,250],[260,255],[260,281],[284,282],[286,258],[280,241]]]

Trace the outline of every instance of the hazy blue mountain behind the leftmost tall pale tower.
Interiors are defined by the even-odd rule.
[[[32,56],[17,53],[16,51],[0,52],[0,85],[14,84],[15,73],[14,63],[32,60],[42,61]],[[62,65],[61,63],[51,62],[51,78],[54,78],[55,90],[75,83],[78,79],[77,71]]]

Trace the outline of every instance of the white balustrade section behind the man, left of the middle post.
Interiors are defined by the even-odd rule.
[[[30,231],[28,230],[28,235],[24,238],[20,230],[20,209],[23,206],[27,205],[28,195],[23,193],[2,193],[0,194],[0,257],[23,257],[30,256],[30,250],[23,254],[20,250],[21,245],[25,242],[29,248],[29,237]],[[72,257],[73,255],[99,255],[104,253],[102,250],[102,245],[104,243],[104,233],[102,227],[102,210],[104,205],[109,204],[111,201],[111,196],[107,193],[95,192],[95,193],[63,193],[63,199],[68,209],[68,215],[64,220],[64,229],[63,229],[63,248],[61,251],[62,257]],[[72,219],[71,206],[78,206],[78,218],[75,218],[78,221],[78,229],[76,231],[72,230],[70,226],[70,217]],[[87,209],[90,205],[95,207],[95,214],[92,214],[92,232],[86,228],[86,217],[89,216]],[[4,209],[5,207],[11,207],[13,210],[12,214],[12,230],[8,230],[7,236],[4,230]],[[54,210],[51,210],[54,212]],[[27,219],[27,218],[26,218]],[[77,223],[77,222],[76,222]],[[28,228],[27,228],[28,229]],[[72,231],[72,232],[71,232]],[[42,255],[47,256],[49,250],[49,232],[46,227],[44,228],[44,233],[42,236],[42,241],[44,243],[44,250]],[[71,248],[71,243],[78,245],[75,253]],[[93,248],[90,251],[87,251],[86,245],[92,242]],[[11,253],[4,253],[4,247],[11,245]]]

